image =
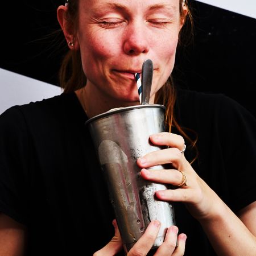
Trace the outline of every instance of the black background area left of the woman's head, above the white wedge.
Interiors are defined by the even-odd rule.
[[[58,1],[3,1],[0,16],[0,67],[57,84],[63,46],[57,23]],[[62,2],[59,1],[61,4]],[[60,36],[58,36],[60,35]]]

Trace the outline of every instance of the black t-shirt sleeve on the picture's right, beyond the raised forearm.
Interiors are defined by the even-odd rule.
[[[228,97],[220,97],[218,107],[230,207],[237,212],[256,200],[256,120]]]

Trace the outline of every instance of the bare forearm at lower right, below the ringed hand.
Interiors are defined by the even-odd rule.
[[[215,213],[199,220],[218,255],[256,255],[256,238],[216,195]]]

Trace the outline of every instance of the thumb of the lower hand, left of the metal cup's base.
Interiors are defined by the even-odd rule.
[[[112,240],[110,240],[110,242],[107,245],[105,245],[102,249],[96,251],[96,253],[94,253],[93,256],[100,256],[100,255],[112,256],[122,250],[123,243],[122,243],[122,238],[120,236],[119,229],[117,226],[117,221],[113,220],[112,225],[114,226],[114,229],[115,229],[115,234],[112,237]]]

